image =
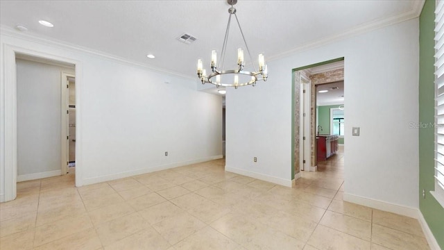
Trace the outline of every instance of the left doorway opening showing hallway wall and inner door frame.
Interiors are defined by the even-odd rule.
[[[74,119],[75,124],[76,115],[74,111],[69,117],[68,93],[69,85],[74,86],[75,67],[19,53],[15,60],[17,182],[67,174],[68,121]]]

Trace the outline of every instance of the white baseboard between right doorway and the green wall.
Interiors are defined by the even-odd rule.
[[[370,208],[375,208],[391,213],[395,213],[398,215],[404,215],[407,217],[411,217],[414,219],[418,219],[418,208],[410,208],[407,206],[400,206],[393,203],[388,203],[386,201],[379,201],[375,199],[368,199],[365,197],[359,197],[353,194],[344,193],[344,201],[348,201],[351,203],[357,203],[362,206],[368,206]]]

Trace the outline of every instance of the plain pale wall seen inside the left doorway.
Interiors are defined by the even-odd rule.
[[[41,176],[37,173],[60,174],[61,72],[74,74],[74,69],[29,60],[16,62],[19,180]]]

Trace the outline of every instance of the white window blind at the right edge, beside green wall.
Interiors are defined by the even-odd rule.
[[[444,207],[444,1],[435,8],[435,191]]]

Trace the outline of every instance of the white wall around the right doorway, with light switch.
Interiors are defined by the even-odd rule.
[[[418,35],[418,19],[387,26],[271,61],[266,83],[229,89],[227,169],[290,183],[291,69],[344,57],[345,194],[418,208]]]

